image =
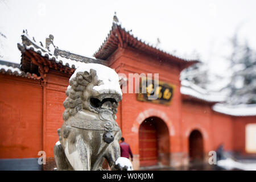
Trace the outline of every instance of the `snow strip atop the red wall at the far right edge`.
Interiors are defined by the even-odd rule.
[[[228,114],[233,116],[253,116],[256,115],[256,104],[240,104],[227,105],[215,104],[212,109],[218,113]]]

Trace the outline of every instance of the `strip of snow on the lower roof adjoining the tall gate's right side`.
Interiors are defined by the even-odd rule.
[[[208,92],[187,80],[181,81],[180,93],[207,102],[224,102],[226,100],[226,97],[220,93]]]

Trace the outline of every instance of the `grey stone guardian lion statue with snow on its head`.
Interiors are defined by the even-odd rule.
[[[85,64],[69,79],[66,95],[64,123],[54,147],[57,169],[101,170],[106,159],[112,170],[126,170],[129,164],[116,163],[122,137],[115,122],[122,100],[117,73],[101,64]]]

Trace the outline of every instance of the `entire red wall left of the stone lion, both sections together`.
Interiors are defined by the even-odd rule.
[[[1,75],[0,158],[38,158],[42,150],[53,157],[68,81],[68,74],[50,71],[43,88],[40,81]]]

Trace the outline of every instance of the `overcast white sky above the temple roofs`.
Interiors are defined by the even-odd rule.
[[[45,44],[54,35],[55,46],[92,56],[112,26],[114,12],[135,36],[167,52],[187,57],[193,51],[209,63],[213,72],[224,72],[228,38],[241,26],[240,39],[256,49],[256,1],[6,1],[0,0],[0,31],[4,57],[20,62],[16,43],[28,35]]]

